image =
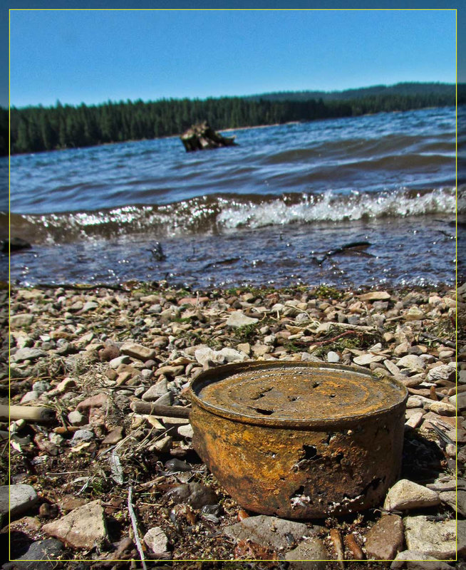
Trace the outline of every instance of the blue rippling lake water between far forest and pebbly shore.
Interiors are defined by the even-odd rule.
[[[203,152],[165,138],[11,157],[11,237],[33,245],[11,281],[455,282],[455,108],[233,134]]]

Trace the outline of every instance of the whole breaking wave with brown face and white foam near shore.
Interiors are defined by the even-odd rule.
[[[457,194],[457,195],[456,195]],[[466,212],[466,187],[455,192],[401,189],[395,192],[349,192],[276,195],[204,195],[163,205],[132,204],[98,211],[11,214],[11,236],[33,243],[65,243],[83,239],[176,237],[219,234],[242,228],[351,222],[359,219],[403,218]],[[8,214],[0,213],[0,231],[7,235]]]

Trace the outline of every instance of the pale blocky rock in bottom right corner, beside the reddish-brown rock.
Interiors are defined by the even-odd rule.
[[[456,557],[456,521],[430,521],[427,517],[405,517],[405,540],[409,550],[417,550],[438,559]],[[458,529],[458,534],[460,530]],[[458,547],[460,544],[458,544]]]

